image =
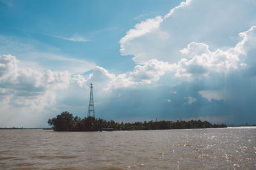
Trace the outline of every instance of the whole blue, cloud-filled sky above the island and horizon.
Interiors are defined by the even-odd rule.
[[[255,0],[0,0],[0,127],[62,111],[256,124]]]

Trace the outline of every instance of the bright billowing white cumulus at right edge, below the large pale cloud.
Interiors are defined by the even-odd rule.
[[[207,76],[211,72],[225,73],[230,69],[244,68],[244,55],[249,50],[256,48],[256,27],[252,26],[248,31],[241,32],[243,38],[234,48],[227,50],[217,49],[214,52],[209,50],[209,46],[204,43],[189,43],[187,48],[180,50],[185,58],[178,62],[179,69],[177,76],[203,75]]]

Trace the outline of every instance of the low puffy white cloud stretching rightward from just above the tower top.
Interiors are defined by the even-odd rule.
[[[96,66],[88,80],[83,82],[100,84],[105,91],[136,85],[147,85],[159,80],[166,71],[174,71],[176,65],[158,60],[149,60],[143,65],[136,65],[134,70],[124,74],[111,74],[103,67]],[[77,77],[75,78],[77,81]],[[81,79],[81,78],[79,78]],[[78,83],[78,81],[77,81]]]

